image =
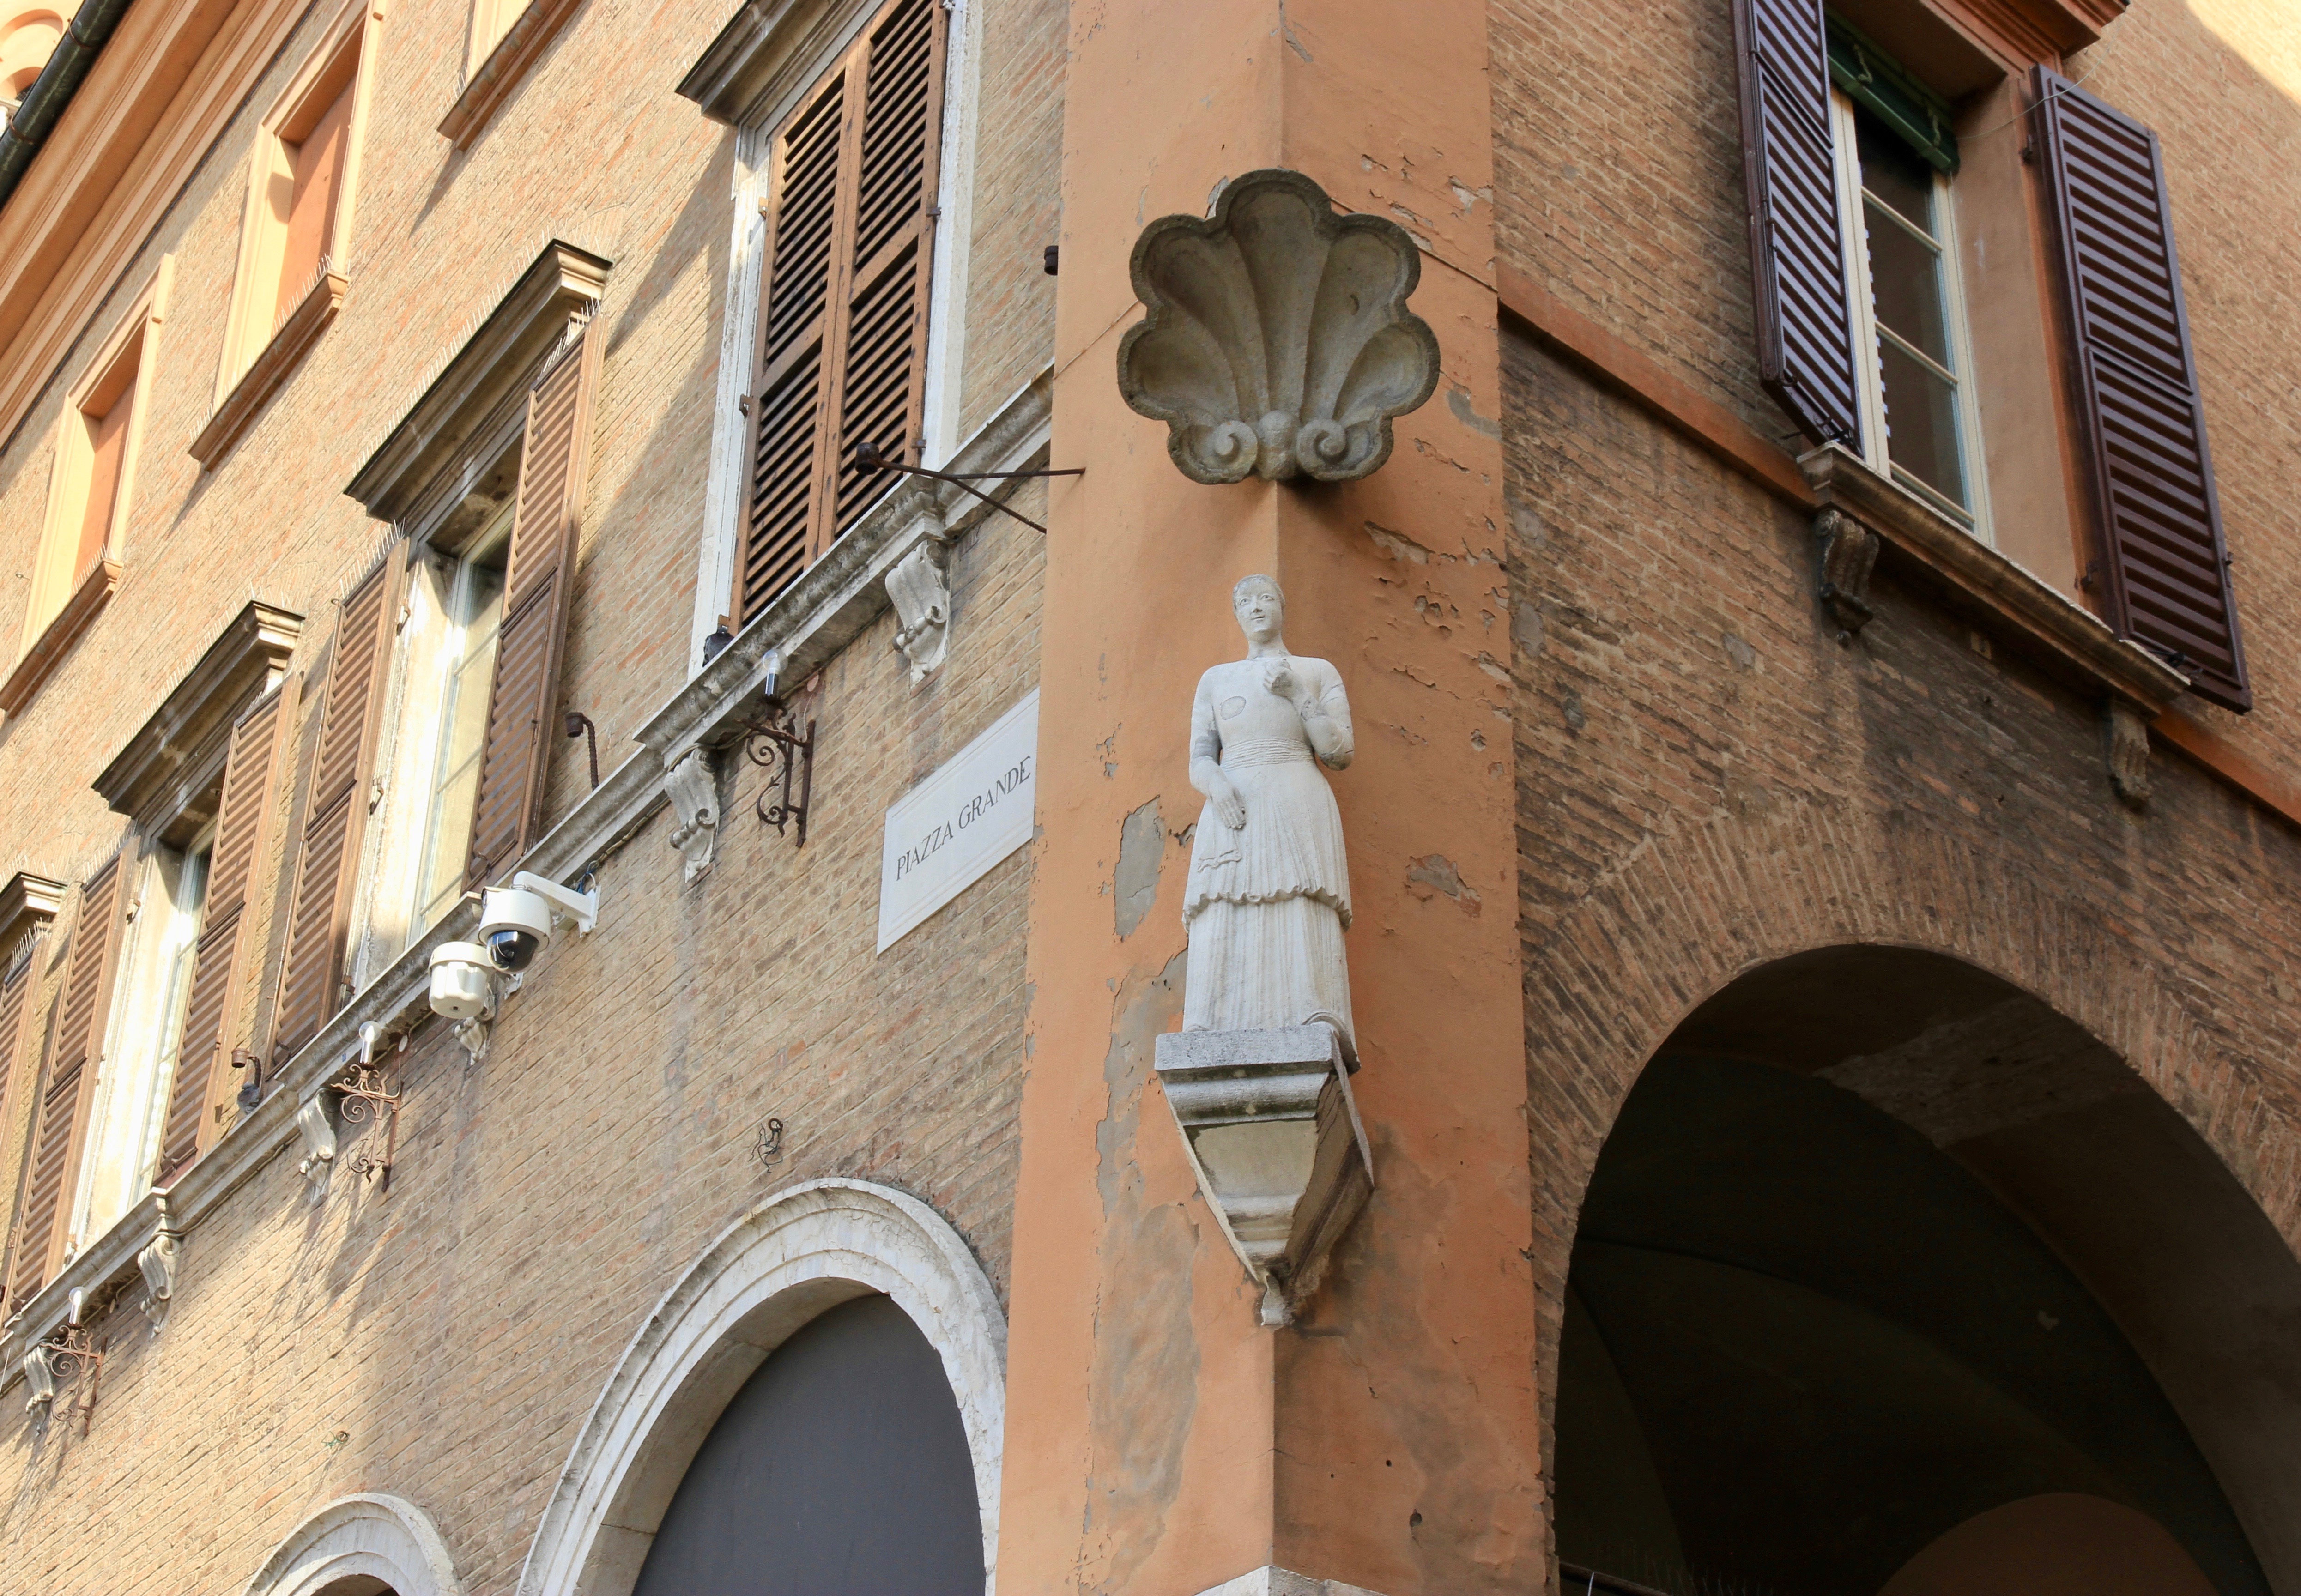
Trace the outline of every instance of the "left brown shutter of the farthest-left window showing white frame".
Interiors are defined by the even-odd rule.
[[[9,1281],[9,1302],[16,1304],[48,1283],[48,1267],[64,1240],[71,1166],[78,1161],[85,1099],[97,1079],[94,1062],[104,1051],[104,1023],[110,1010],[117,904],[120,860],[113,858],[81,888],[81,924],[71,934],[71,959],[64,964],[48,1081],[39,1097],[39,1131],[32,1138],[32,1177],[23,1198],[23,1221],[16,1226],[16,1279]]]

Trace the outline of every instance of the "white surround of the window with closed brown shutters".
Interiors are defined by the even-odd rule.
[[[983,0],[941,0],[950,14],[943,39],[943,143],[934,179],[934,262],[927,278],[927,361],[920,391],[923,465],[939,467],[960,446],[960,398],[966,368],[966,267],[973,241],[976,126],[983,80]],[[773,136],[801,97],[847,53],[877,0],[854,0],[854,16],[828,37],[789,85],[762,101],[734,140],[734,239],[727,248],[727,315],[720,320],[718,405],[711,412],[711,467],[704,478],[704,531],[695,573],[695,623],[688,676],[704,667],[704,639],[734,612],[734,559],[743,543],[743,485],[750,476],[750,363],[759,333],[759,287],[766,269],[766,184]],[[888,485],[893,492],[893,483]]]

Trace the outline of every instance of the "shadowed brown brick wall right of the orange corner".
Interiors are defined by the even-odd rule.
[[[1514,264],[1779,432],[1746,363],[1728,5],[1680,11],[1498,11],[1498,230]],[[2301,131],[2276,51],[2294,14],[2200,11],[2140,0],[2071,71],[2099,62],[2087,87],[2165,136],[2262,701],[2184,713],[2289,780],[2301,545],[2276,483],[2301,191],[2269,152]],[[1806,947],[1933,947],[2041,996],[2301,1240],[2301,835],[2165,745],[2147,814],[2122,809],[2096,706],[1891,575],[1841,646],[1799,511],[1512,333],[1505,393],[1546,1401],[1622,1095],[1696,1003]]]

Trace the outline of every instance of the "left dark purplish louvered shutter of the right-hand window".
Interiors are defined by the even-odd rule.
[[[1735,0],[1758,379],[1815,444],[1859,444],[1820,0]]]

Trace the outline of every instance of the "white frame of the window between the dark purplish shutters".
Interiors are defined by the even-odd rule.
[[[1845,308],[1852,315],[1855,333],[1855,389],[1859,391],[1862,402],[1862,458],[1873,471],[1914,492],[1944,517],[1974,534],[1974,538],[1983,545],[1997,547],[1997,536],[1990,527],[1990,471],[1988,458],[1981,448],[1981,396],[1974,382],[1974,340],[1965,320],[1965,274],[1958,260],[1956,186],[1949,182],[1947,172],[1933,172],[1933,218],[1937,237],[1928,244],[1940,251],[1942,260],[1942,315],[1944,331],[1949,336],[1949,354],[1956,361],[1956,366],[1942,375],[1949,377],[1956,391],[1954,409],[1958,421],[1958,455],[1965,465],[1967,492],[1972,494],[1970,508],[1942,497],[1940,490],[1917,476],[1896,469],[1887,451],[1885,373],[1878,363],[1878,299],[1871,287],[1868,214],[1862,205],[1862,145],[1855,131],[1855,101],[1841,87],[1829,90],[1829,143],[1836,156],[1838,177],[1838,230],[1843,235],[1841,244],[1845,253]],[[1935,361],[1926,359],[1921,352],[1910,350],[1908,340],[1896,338],[1896,343],[1926,366],[1935,366]],[[1935,366],[1935,370],[1942,368]]]

